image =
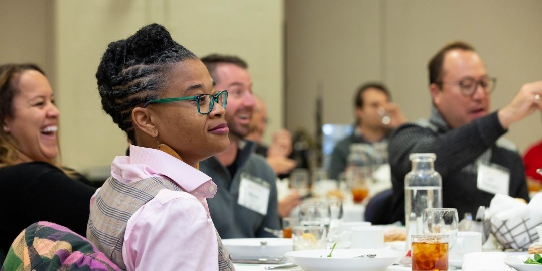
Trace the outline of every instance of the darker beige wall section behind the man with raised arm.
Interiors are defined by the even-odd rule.
[[[525,82],[542,79],[542,1],[286,1],[287,127],[314,131],[314,99],[324,86],[324,122],[352,123],[361,83],[382,80],[410,120],[426,118],[429,58],[445,43],[472,43],[498,78],[492,109]],[[307,101],[307,104],[304,102]],[[541,138],[540,113],[506,137],[524,151]]]

